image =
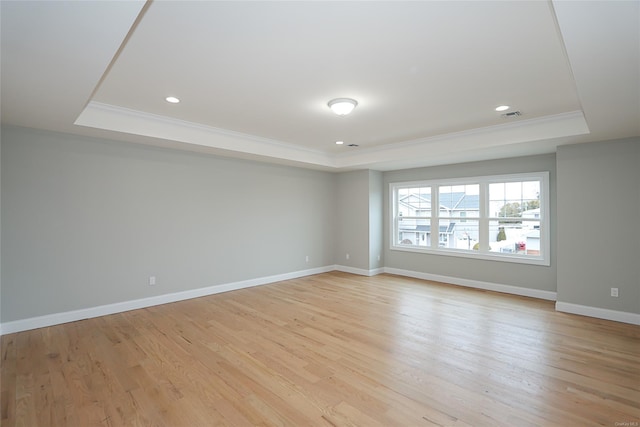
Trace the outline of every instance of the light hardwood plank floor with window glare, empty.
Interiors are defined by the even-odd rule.
[[[326,273],[2,337],[2,426],[638,426],[640,327]]]

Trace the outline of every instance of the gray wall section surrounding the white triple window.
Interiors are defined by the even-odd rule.
[[[475,260],[389,249],[389,183],[524,172],[549,172],[551,266]],[[556,161],[555,155],[529,156],[458,165],[406,169],[384,174],[385,267],[543,291],[556,291]]]

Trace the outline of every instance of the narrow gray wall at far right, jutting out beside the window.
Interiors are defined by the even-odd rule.
[[[559,147],[557,163],[558,302],[640,313],[640,138]]]

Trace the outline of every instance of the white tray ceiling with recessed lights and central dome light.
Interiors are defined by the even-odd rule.
[[[0,7],[3,124],[325,170],[640,136],[638,1]]]

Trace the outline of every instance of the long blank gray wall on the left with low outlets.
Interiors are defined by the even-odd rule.
[[[1,162],[2,322],[335,263],[334,174],[23,128]]]

